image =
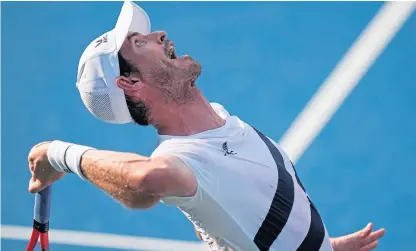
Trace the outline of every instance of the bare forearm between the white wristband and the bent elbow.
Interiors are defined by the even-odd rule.
[[[138,154],[89,150],[81,159],[81,171],[94,185],[129,208],[148,208],[159,196],[143,189],[150,158]]]

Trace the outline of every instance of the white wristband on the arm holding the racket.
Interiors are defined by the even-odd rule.
[[[48,160],[58,172],[75,173],[85,180],[81,171],[81,157],[90,149],[94,148],[55,140],[49,145]]]

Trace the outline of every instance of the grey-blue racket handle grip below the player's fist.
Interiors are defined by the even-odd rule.
[[[49,225],[49,215],[51,210],[52,185],[46,187],[35,195],[34,224]],[[48,226],[46,226],[48,228]],[[47,230],[46,230],[47,232]]]

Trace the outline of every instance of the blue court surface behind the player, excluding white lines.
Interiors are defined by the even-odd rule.
[[[149,155],[156,133],[96,120],[75,87],[81,53],[112,29],[121,2],[1,4],[1,217],[2,224],[30,227],[27,154],[34,144],[61,139]],[[198,85],[208,99],[275,140],[382,5],[139,4],[153,30],[165,30],[175,41],[177,54],[202,63]],[[297,164],[330,234],[346,234],[372,221],[387,229],[380,251],[416,250],[415,30],[413,15]],[[55,185],[51,217],[52,227],[59,229],[196,240],[175,208],[131,211],[75,176]],[[4,250],[25,245],[2,239]]]

